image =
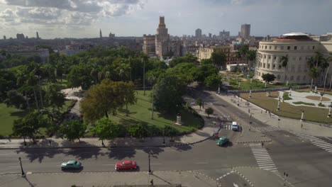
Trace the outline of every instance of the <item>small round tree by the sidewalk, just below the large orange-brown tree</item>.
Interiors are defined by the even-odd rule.
[[[92,132],[99,137],[101,145],[104,145],[104,140],[113,140],[115,137],[118,137],[120,126],[109,120],[109,118],[104,117],[97,121]]]

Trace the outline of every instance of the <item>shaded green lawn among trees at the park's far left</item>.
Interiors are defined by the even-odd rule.
[[[70,106],[72,101],[65,101],[65,107],[61,108],[60,111],[67,111],[68,106]],[[19,118],[23,118],[28,111],[19,110],[12,107],[7,107],[6,104],[0,103],[0,136],[9,136],[13,132],[11,128],[13,128],[13,121]],[[45,129],[41,129],[45,135]]]

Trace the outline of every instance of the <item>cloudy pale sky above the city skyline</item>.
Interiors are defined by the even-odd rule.
[[[97,38],[155,34],[165,16],[170,35],[208,35],[227,30],[238,35],[332,32],[332,0],[0,0],[0,36]]]

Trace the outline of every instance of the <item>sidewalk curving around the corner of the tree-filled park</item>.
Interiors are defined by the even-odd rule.
[[[197,142],[202,142],[211,137],[214,130],[218,130],[218,126],[214,127],[213,122],[220,123],[216,119],[215,115],[211,115],[210,118],[206,118],[204,109],[199,110],[199,106],[195,106],[194,98],[185,97],[188,105],[194,108],[199,115],[204,119],[204,127],[196,132],[192,132],[188,135],[182,135],[174,137],[174,142],[170,141],[170,137],[165,137],[165,145],[163,145],[164,137],[146,137],[143,140],[130,138],[130,137],[119,137],[114,139],[112,142],[104,141],[106,147],[172,147],[180,145],[192,145]],[[81,142],[69,142],[60,138],[48,138],[45,140],[37,140],[38,143],[33,145],[28,140],[27,146],[23,145],[23,139],[12,139],[12,140],[0,140],[0,149],[21,149],[21,148],[82,148],[82,147],[102,147],[101,140],[98,138],[81,138]]]

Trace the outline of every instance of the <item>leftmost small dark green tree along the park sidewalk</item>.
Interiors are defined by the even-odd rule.
[[[47,123],[43,113],[28,113],[23,119],[14,121],[13,135],[30,137],[35,142],[35,134],[38,133],[39,128],[45,127]]]

